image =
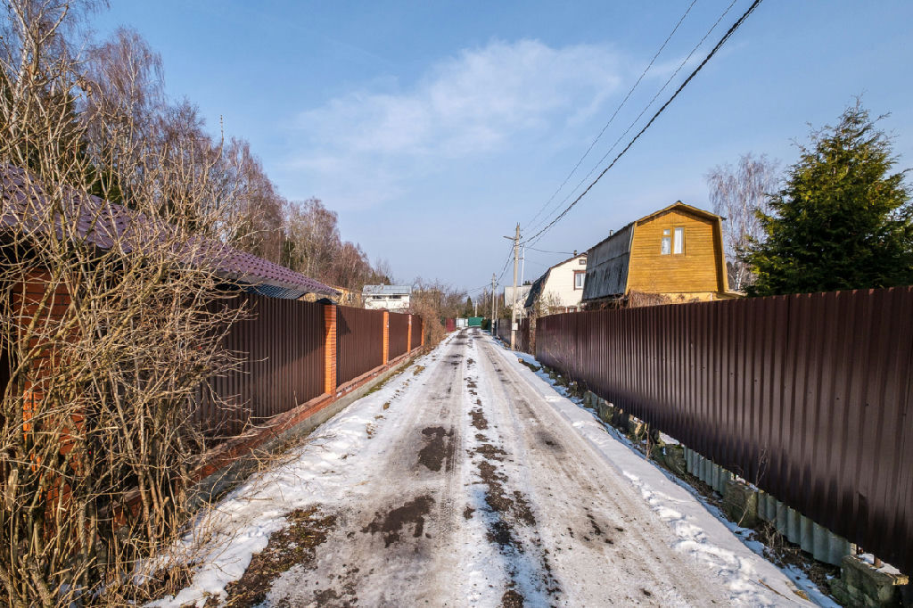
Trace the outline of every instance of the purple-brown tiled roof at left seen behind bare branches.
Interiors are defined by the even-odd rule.
[[[42,183],[32,174],[11,165],[0,164],[0,201],[3,212],[0,227],[23,227],[26,231],[46,230],[47,225],[30,209],[47,206],[48,198]],[[142,246],[156,234],[173,229],[161,220],[131,211],[121,204],[110,203],[98,196],[79,194],[65,186],[63,209],[55,222],[58,232],[64,227],[75,227],[74,237],[100,249],[110,249],[119,244],[126,253],[142,250]],[[28,202],[31,204],[27,204]],[[190,250],[193,249],[193,253]],[[274,298],[297,299],[306,293],[336,296],[336,289],[320,281],[305,277],[299,272],[279,266],[261,257],[253,256],[235,247],[215,241],[196,240],[185,252],[175,252],[176,257],[186,257],[191,264],[212,267],[221,276],[245,284]]]

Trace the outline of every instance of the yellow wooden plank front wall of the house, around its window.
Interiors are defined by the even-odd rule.
[[[636,222],[631,243],[627,291],[670,296],[694,294],[711,299],[727,291],[719,218],[710,219],[674,208]],[[662,254],[663,230],[685,229],[681,254]]]

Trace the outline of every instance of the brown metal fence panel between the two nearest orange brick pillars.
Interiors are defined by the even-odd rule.
[[[383,365],[383,310],[336,307],[336,384]]]

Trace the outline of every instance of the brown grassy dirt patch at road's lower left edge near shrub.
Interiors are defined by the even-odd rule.
[[[307,566],[314,561],[317,547],[336,527],[336,516],[320,513],[320,508],[295,509],[286,520],[289,526],[273,532],[267,548],[255,553],[244,576],[226,586],[224,606],[253,606],[263,602],[269,587],[292,566]]]

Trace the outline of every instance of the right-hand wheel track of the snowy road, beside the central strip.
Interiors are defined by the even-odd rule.
[[[662,522],[596,457],[551,406],[479,341],[482,401],[523,466],[512,479],[530,498],[537,533],[561,584],[561,603],[710,605],[723,594],[668,546]],[[599,585],[594,585],[599,581]],[[609,596],[604,589],[611,589]]]

